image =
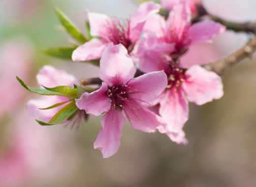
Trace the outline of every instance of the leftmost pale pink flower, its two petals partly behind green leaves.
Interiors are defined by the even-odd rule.
[[[39,70],[36,76],[37,82],[46,87],[55,86],[73,86],[78,83],[78,80],[73,75],[67,74],[64,70],[56,70],[52,66],[44,66]],[[27,104],[28,111],[31,115],[35,116],[42,121],[50,121],[63,106],[42,110],[38,108],[46,108],[57,103],[68,101],[70,98],[63,96],[42,96],[39,99],[30,100]]]

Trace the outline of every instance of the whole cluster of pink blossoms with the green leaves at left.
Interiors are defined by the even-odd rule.
[[[167,18],[159,14],[160,4],[146,1],[126,24],[86,11],[93,37],[73,51],[72,60],[100,59],[101,86],[79,86],[72,75],[51,66],[43,67],[37,75],[44,88],[28,87],[18,78],[30,91],[55,95],[29,101],[30,113],[49,121],[38,123],[69,121],[78,126],[82,116],[103,114],[94,147],[104,158],[117,152],[125,117],[134,129],[147,133],[158,130],[176,143],[187,144],[183,126],[188,120],[188,101],[203,105],[219,99],[223,84],[214,72],[180,58],[192,45],[211,42],[225,27],[211,20],[192,24],[198,0],[161,3],[170,11]]]

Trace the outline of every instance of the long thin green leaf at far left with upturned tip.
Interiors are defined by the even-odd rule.
[[[62,94],[62,93],[59,93],[59,92],[54,92],[54,91],[50,91],[50,90],[47,90],[47,89],[42,89],[42,88],[33,88],[33,87],[30,87],[30,86],[27,86],[20,78],[18,78],[16,76],[16,79],[20,82],[20,84],[26,88],[27,90],[33,92],[33,93],[38,93],[38,94],[41,94],[41,95],[58,95],[58,96],[64,96],[64,97],[70,97],[70,98],[76,98],[76,96],[73,96],[73,95],[66,95],[66,94]]]

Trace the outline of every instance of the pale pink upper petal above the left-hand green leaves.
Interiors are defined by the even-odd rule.
[[[78,83],[73,75],[67,74],[64,70],[57,70],[52,66],[44,66],[39,70],[39,74],[36,75],[38,84],[47,87],[55,86],[73,86]]]

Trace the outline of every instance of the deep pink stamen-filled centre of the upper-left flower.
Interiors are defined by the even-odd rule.
[[[128,35],[128,28],[125,27],[117,18],[106,20],[106,24],[101,30],[101,38],[106,43],[113,42],[115,45],[122,44],[127,49],[131,44]]]

